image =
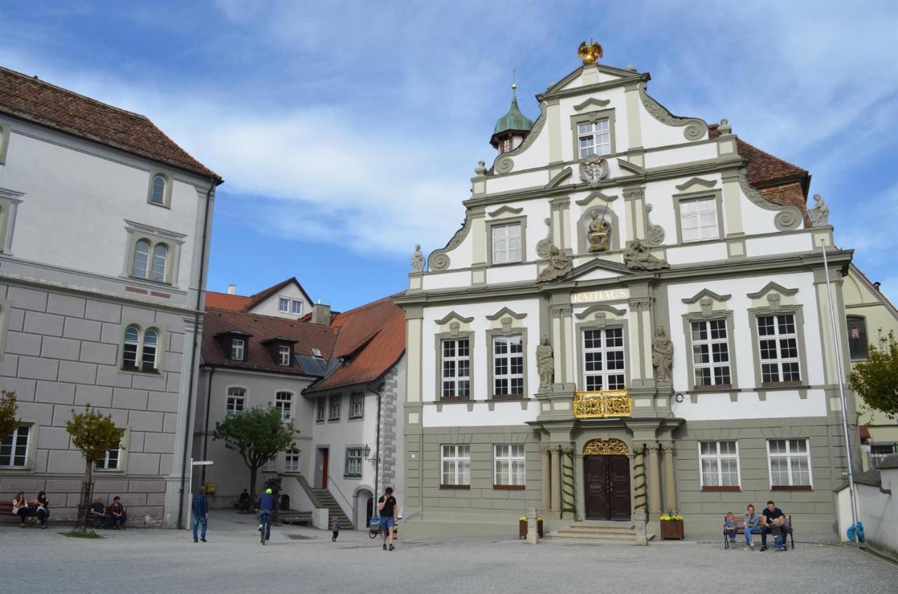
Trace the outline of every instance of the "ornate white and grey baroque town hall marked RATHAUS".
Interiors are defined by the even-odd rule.
[[[806,208],[806,170],[671,115],[648,81],[587,55],[535,122],[514,100],[462,228],[426,272],[413,258],[396,300],[409,531],[531,508],[552,527],[644,509],[652,531],[671,510],[710,530],[769,499],[832,531],[850,357],[822,249],[840,320],[851,251],[819,197]]]

